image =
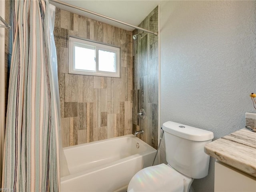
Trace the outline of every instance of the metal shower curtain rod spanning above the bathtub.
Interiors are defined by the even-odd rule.
[[[78,10],[80,10],[80,11],[83,11],[83,12],[86,12],[86,13],[90,13],[90,14],[93,14],[93,15],[96,15],[96,16],[99,16],[99,17],[108,19],[108,20],[112,20],[112,21],[114,21],[114,22],[118,22],[118,23],[121,23],[121,24],[130,26],[130,27],[132,27],[132,28],[136,28],[136,29],[142,30],[142,31],[148,32],[148,33],[150,33],[150,34],[158,35],[158,32],[153,32],[153,31],[150,31],[150,30],[147,30],[147,29],[138,27],[138,26],[134,26],[134,25],[131,25],[131,24],[128,24],[128,23],[125,23],[125,22],[122,22],[122,21],[119,21],[119,20],[110,18],[110,17],[108,17],[108,16],[104,16],[104,15],[101,15],[101,14],[98,14],[98,13],[95,13],[95,12],[92,12],[92,11],[89,11],[89,10],[86,10],[86,9],[83,9],[83,8],[80,8],[80,7],[77,7],[77,6],[74,6],[74,5],[70,5],[70,4],[68,4],[68,3],[64,3],[64,2],[62,2],[62,1],[58,1],[58,0],[49,0],[49,1],[50,1],[50,2],[54,2],[54,3],[58,3],[58,4],[62,4],[62,5],[71,7],[71,8],[75,8],[75,9],[78,9]]]

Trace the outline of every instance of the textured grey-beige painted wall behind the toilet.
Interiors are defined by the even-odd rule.
[[[160,124],[179,122],[215,138],[243,128],[245,112],[255,112],[255,37],[256,1],[162,1]],[[213,158],[208,176],[192,186],[214,191]]]

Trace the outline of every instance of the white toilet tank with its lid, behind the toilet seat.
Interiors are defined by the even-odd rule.
[[[210,156],[204,153],[204,145],[212,141],[213,133],[171,121],[162,129],[168,164],[191,178],[207,176]]]

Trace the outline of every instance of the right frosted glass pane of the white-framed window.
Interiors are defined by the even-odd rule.
[[[116,72],[116,53],[99,49],[99,70]]]

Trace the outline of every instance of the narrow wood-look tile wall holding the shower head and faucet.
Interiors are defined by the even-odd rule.
[[[139,25],[151,31],[158,31],[158,7]],[[134,30],[133,34],[141,33]],[[133,132],[144,130],[140,138],[150,146],[158,145],[158,36],[143,32],[134,41],[133,49]],[[141,119],[137,113],[144,108],[146,117]]]

